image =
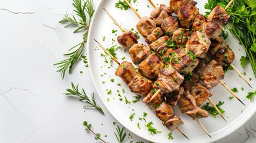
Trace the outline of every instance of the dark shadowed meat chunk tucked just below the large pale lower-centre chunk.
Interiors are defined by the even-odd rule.
[[[170,92],[169,94],[165,95],[166,102],[170,105],[176,105],[181,99],[181,95],[184,92],[184,88],[182,86],[179,86],[179,89],[177,91]]]

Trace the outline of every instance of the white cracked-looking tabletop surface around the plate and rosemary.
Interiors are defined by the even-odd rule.
[[[92,129],[105,141],[117,142],[113,125],[117,121],[97,96],[105,115],[84,109],[84,102],[63,95],[71,82],[79,83],[87,95],[95,92],[89,69],[80,62],[62,80],[53,66],[81,41],[81,33],[73,34],[72,27],[64,28],[58,23],[66,11],[72,13],[71,3],[0,1],[0,142],[100,142],[84,130],[84,120],[92,123]],[[256,114],[217,142],[256,142],[255,130]],[[126,142],[147,142],[130,135]]]

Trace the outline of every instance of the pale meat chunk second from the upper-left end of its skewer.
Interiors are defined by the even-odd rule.
[[[132,62],[139,64],[151,54],[151,50],[143,43],[136,43],[129,49],[129,54],[130,58],[132,58]]]

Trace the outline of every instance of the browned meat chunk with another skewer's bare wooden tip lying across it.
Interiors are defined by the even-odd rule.
[[[147,104],[147,103],[151,100],[151,98],[153,97],[153,95],[157,92],[157,90],[158,90],[158,89],[155,89],[155,88],[151,89],[151,90],[150,90],[150,93],[148,93],[147,97],[144,97],[144,98],[143,98],[143,102],[144,102],[145,104]],[[161,102],[163,102],[163,101],[164,101],[164,95],[163,95],[162,92],[159,92],[159,94],[157,94],[156,97],[153,98],[153,99],[150,101],[150,103],[148,103],[148,106],[149,106],[151,109],[154,109],[154,108],[158,107],[158,106],[161,104]]]

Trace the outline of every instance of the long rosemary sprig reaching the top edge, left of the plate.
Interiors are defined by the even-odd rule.
[[[59,23],[66,24],[65,27],[70,25],[77,26],[77,29],[74,30],[74,33],[77,33],[79,30],[84,29],[83,42],[78,43],[77,45],[69,49],[69,51],[71,51],[72,49],[77,48],[75,49],[75,51],[64,54],[65,56],[69,56],[69,58],[60,61],[60,63],[54,64],[54,66],[58,66],[57,68],[59,70],[57,71],[61,74],[62,79],[65,77],[66,69],[69,68],[69,73],[71,73],[75,63],[77,63],[78,59],[81,57],[81,54],[84,51],[84,43],[87,42],[90,23],[92,21],[93,14],[95,13],[95,9],[93,8],[93,0],[73,0],[72,5],[75,8],[75,15],[78,17],[78,19],[75,18],[75,15],[71,15],[70,17],[68,14],[65,14],[63,19],[60,20]],[[87,18],[87,15],[89,16],[89,18]]]

